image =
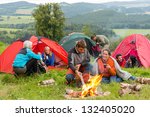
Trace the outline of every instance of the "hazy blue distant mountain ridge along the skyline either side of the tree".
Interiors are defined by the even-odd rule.
[[[136,2],[135,2],[136,1]],[[135,0],[130,2],[108,2],[108,3],[60,3],[60,6],[67,18],[84,15],[100,10],[114,10],[126,14],[150,14],[149,0]],[[31,15],[37,4],[25,1],[0,4],[0,15]],[[24,12],[17,12],[23,10]],[[31,12],[29,12],[29,10]],[[26,13],[28,11],[28,13]]]

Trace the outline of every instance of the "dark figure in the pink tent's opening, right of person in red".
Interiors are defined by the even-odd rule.
[[[125,67],[126,68],[139,67],[139,63],[138,63],[138,60],[136,59],[136,57],[131,55],[126,62]]]

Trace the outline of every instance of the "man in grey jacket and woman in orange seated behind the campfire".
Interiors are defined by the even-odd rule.
[[[92,38],[100,40],[100,37]],[[105,43],[104,41],[102,43],[104,48],[98,53],[93,64],[90,63],[90,54],[86,49],[84,40],[79,40],[75,47],[69,51],[69,68],[66,74],[67,84],[82,79],[84,83],[87,83],[91,76],[98,74],[103,75],[102,83],[122,82],[123,80],[136,79],[127,71],[122,70],[116,59],[111,56],[111,52],[108,49],[109,42],[106,41]]]

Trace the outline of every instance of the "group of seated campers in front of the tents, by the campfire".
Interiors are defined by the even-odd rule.
[[[95,38],[95,37],[94,37]],[[96,42],[97,43],[97,42]],[[99,41],[99,44],[101,42]],[[124,66],[122,58],[117,55],[117,61],[111,56],[109,51],[109,42],[103,45],[105,48],[95,57],[95,62],[91,64],[91,55],[86,49],[86,42],[79,40],[76,45],[68,52],[68,71],[66,73],[67,84],[74,81],[87,83],[89,78],[94,75],[102,74],[102,82],[122,82],[123,80],[135,80],[130,73],[123,71]],[[102,44],[102,43],[101,43]],[[106,45],[106,46],[105,46]],[[15,75],[25,74],[31,75],[37,72],[46,72],[47,66],[54,66],[55,56],[50,48],[46,46],[43,53],[35,54],[32,51],[32,42],[25,41],[24,47],[16,55],[13,62],[13,70]],[[118,64],[119,63],[119,64]],[[41,68],[42,66],[42,68]],[[120,67],[121,66],[121,67]]]

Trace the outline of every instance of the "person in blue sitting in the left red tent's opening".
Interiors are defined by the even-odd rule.
[[[44,61],[46,66],[54,66],[55,56],[51,52],[48,46],[44,48],[44,53],[42,54],[42,60]]]

